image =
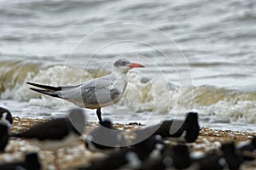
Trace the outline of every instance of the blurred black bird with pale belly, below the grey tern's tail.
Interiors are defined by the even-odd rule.
[[[80,139],[84,131],[86,116],[80,109],[69,111],[68,116],[41,122],[22,133],[11,137],[27,139],[41,150],[58,150]]]

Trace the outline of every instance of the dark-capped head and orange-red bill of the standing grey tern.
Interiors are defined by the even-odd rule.
[[[113,71],[115,72],[128,72],[133,68],[145,67],[138,63],[131,63],[128,59],[118,59],[113,63]]]

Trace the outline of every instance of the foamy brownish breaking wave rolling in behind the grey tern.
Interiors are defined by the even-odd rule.
[[[1,61],[0,72],[1,99],[47,107],[60,105],[62,100],[34,93],[29,90],[26,82],[53,86],[72,85],[99,76],[97,70],[84,71],[67,65],[41,65],[24,61]],[[107,73],[108,71],[105,71],[102,75]],[[184,99],[182,104],[179,102],[181,96]],[[129,74],[128,86],[118,105],[136,112],[157,113],[172,112],[177,105],[190,105],[191,110],[199,111],[207,122],[256,122],[255,89],[234,90],[198,86],[181,92],[180,88],[171,82],[167,83],[157,77],[147,79],[133,72]]]

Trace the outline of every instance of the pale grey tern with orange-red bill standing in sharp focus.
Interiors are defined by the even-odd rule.
[[[65,99],[87,109],[96,109],[96,115],[99,122],[102,123],[101,108],[119,102],[128,83],[127,72],[140,67],[144,67],[144,65],[131,63],[128,59],[118,59],[113,63],[110,75],[98,77],[79,85],[52,87],[32,82],[26,83],[37,87],[30,89],[38,93]]]

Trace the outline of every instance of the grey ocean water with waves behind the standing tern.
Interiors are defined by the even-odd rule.
[[[129,72],[123,99],[103,117],[151,124],[198,111],[202,126],[255,132],[255,1],[0,3],[0,106],[14,116],[62,116],[74,107],[26,82],[84,82],[125,57],[146,67]]]

